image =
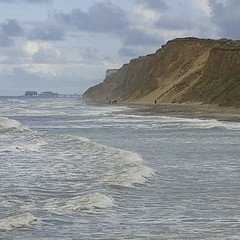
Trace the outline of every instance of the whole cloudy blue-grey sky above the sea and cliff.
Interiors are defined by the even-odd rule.
[[[239,0],[0,0],[0,95],[81,94],[179,37],[240,39]]]

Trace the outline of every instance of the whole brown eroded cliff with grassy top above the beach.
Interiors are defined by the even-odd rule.
[[[132,59],[88,89],[86,101],[240,106],[240,41],[180,38]]]

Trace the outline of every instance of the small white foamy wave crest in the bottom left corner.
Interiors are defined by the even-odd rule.
[[[29,212],[18,213],[0,220],[0,231],[12,231],[37,223],[38,219]]]

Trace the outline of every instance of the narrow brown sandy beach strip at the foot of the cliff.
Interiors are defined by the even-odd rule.
[[[220,107],[206,104],[187,103],[139,103],[125,102],[129,108],[153,115],[163,115],[182,118],[216,119],[220,121],[240,122],[240,109],[234,107]]]

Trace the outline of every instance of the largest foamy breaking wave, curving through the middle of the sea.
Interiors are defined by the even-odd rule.
[[[91,141],[88,138],[63,135],[64,141],[78,141],[79,147],[86,153],[98,156],[98,164],[106,166],[105,183],[108,186],[134,187],[144,184],[154,174],[154,170],[145,165],[141,155],[120,148],[109,147]],[[109,174],[107,173],[109,172]]]

